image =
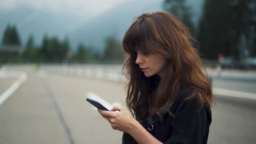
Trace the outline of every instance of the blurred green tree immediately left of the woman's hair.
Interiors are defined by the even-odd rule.
[[[121,62],[124,56],[121,42],[114,36],[105,37],[105,59],[108,61]]]

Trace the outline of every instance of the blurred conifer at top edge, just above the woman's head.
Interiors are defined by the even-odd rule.
[[[184,23],[190,33],[194,34],[194,24],[192,23],[190,7],[186,5],[186,0],[164,0],[164,10],[170,12]]]

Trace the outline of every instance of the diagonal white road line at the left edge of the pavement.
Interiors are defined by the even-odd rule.
[[[5,92],[3,92],[2,95],[0,95],[0,105],[3,104],[3,102],[10,97],[10,95],[13,94],[13,92],[20,87],[20,85],[25,82],[27,79],[27,74],[23,72],[23,74],[20,76],[19,79],[16,80],[16,82],[13,83],[13,85],[10,86]]]

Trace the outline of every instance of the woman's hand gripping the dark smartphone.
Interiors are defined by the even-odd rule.
[[[138,123],[131,113],[122,106],[115,105],[110,111],[98,108],[98,112],[108,120],[114,130],[129,133],[134,129],[135,124]]]

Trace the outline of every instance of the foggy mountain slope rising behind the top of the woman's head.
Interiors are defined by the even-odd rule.
[[[194,14],[192,19],[195,24],[197,24],[201,13],[202,1],[188,0],[188,4],[192,6],[191,11]],[[105,36],[112,35],[121,41],[135,16],[163,10],[162,6],[161,0],[138,0],[136,2],[131,0],[121,3],[70,33],[72,47],[84,43],[92,45],[96,49],[104,49]]]

